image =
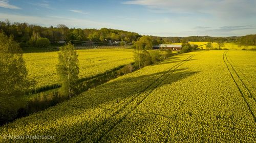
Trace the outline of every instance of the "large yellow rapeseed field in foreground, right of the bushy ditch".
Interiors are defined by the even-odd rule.
[[[54,135],[55,142],[255,142],[255,122],[224,52],[190,52],[147,66],[0,127],[0,136]],[[250,76],[256,72],[254,51],[229,51],[227,58],[242,70],[243,63],[234,60],[240,52],[238,61],[247,58],[252,71],[238,74]],[[255,86],[255,80],[247,80]],[[253,107],[252,98],[245,99]]]

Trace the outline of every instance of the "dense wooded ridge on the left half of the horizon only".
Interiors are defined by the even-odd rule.
[[[7,36],[13,35],[14,40],[24,45],[31,45],[33,39],[39,37],[48,38],[51,43],[59,39],[81,40],[109,43],[112,41],[125,41],[131,43],[136,41],[139,36],[137,33],[113,30],[109,28],[81,29],[69,28],[66,25],[58,24],[57,26],[43,27],[28,23],[11,23],[10,21],[0,21],[0,31]]]

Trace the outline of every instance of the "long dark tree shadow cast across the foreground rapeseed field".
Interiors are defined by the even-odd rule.
[[[178,68],[168,73],[163,70],[134,77],[132,75],[136,73],[127,74],[0,129],[9,134],[19,131],[26,135],[55,135],[56,140],[60,139],[58,141],[77,138],[89,141],[88,139],[95,138],[95,134],[104,134],[122,122],[124,116],[121,115],[134,109],[133,101],[141,100],[138,98],[141,93],[198,73],[187,70]],[[12,126],[15,127],[13,132]]]

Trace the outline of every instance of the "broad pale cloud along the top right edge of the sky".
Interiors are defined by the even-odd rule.
[[[220,18],[255,17],[254,0],[132,0],[125,5],[141,5],[156,13],[208,14]]]

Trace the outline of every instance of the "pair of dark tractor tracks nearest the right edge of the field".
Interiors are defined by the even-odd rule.
[[[242,97],[243,97],[243,99],[244,99],[244,101],[245,101],[245,103],[246,103],[246,105],[247,105],[247,107],[248,107],[248,109],[249,109],[249,111],[250,111],[250,113],[251,113],[253,119],[254,119],[254,122],[256,122],[256,117],[255,117],[253,111],[251,110],[251,107],[250,107],[249,103],[247,102],[245,95],[243,94],[243,92],[242,92],[241,88],[239,87],[237,81],[234,79],[234,75],[231,73],[230,68],[228,67],[228,63],[229,63],[229,62],[228,62],[228,60],[227,60],[227,52],[228,52],[228,51],[225,51],[225,52],[222,54],[222,56],[223,56],[223,61],[224,61],[224,63],[226,64],[226,67],[227,67],[227,69],[228,69],[228,71],[229,71],[229,73],[230,73],[230,75],[231,75],[231,77],[232,77],[234,83],[236,84],[236,86],[237,86],[237,88],[238,88],[240,94],[242,95]],[[225,58],[226,58],[226,61],[225,61]],[[229,63],[229,64],[230,64],[230,63]],[[231,64],[230,64],[230,66],[232,67]],[[232,68],[232,69],[233,69],[233,68]],[[236,71],[235,71],[234,69],[233,69],[233,71],[234,71],[234,73],[236,73]],[[237,75],[237,73],[236,73],[236,75]],[[237,76],[238,76],[238,75],[237,75]],[[238,77],[239,77],[239,76],[238,76]],[[239,79],[240,79],[240,78],[239,78]],[[240,79],[240,80],[241,80],[241,79]],[[241,82],[243,83],[242,80],[241,80]],[[243,84],[244,84],[244,83],[243,83]],[[245,85],[244,85],[244,86],[245,86]],[[247,89],[247,88],[246,88],[246,89]],[[247,90],[248,90],[248,89],[247,89]]]

